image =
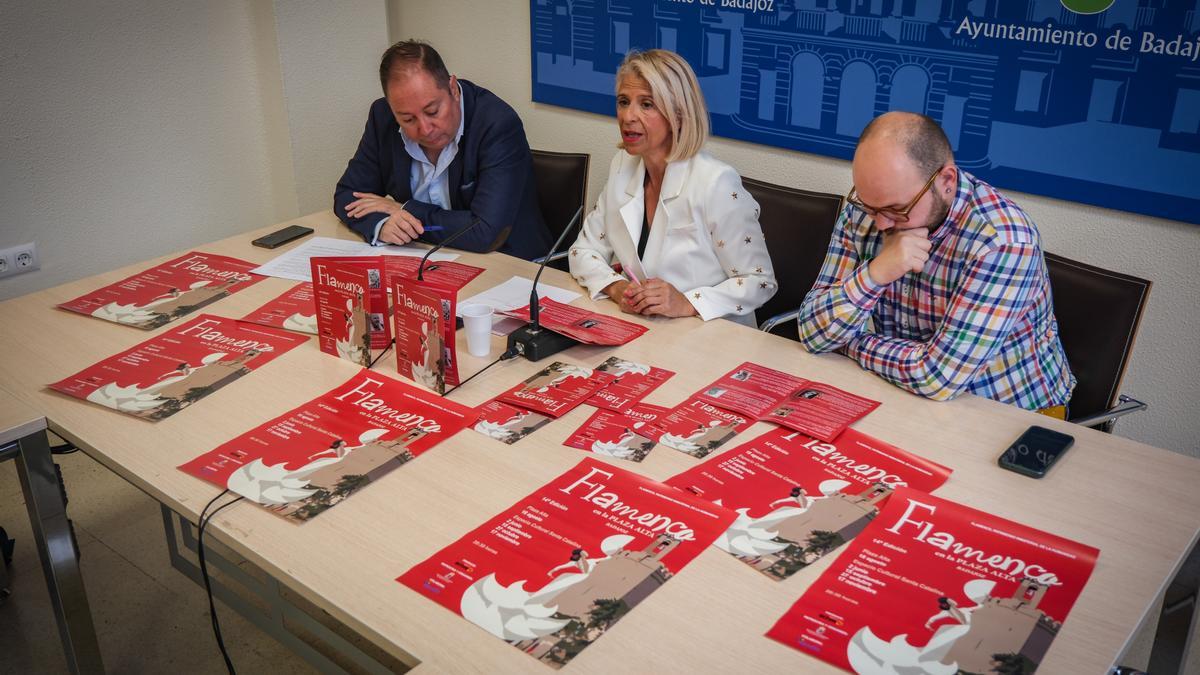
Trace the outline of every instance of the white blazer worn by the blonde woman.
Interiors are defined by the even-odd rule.
[[[742,187],[742,177],[707,153],[668,163],[638,265],[644,177],[641,157],[617,151],[596,208],[571,245],[571,276],[596,299],[625,279],[613,263],[641,267],[674,286],[704,321],[724,316],[755,325],[755,309],[775,294],[775,273],[758,203]]]

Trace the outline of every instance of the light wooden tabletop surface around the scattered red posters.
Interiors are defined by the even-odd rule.
[[[329,211],[294,222],[314,227],[318,235],[354,238]],[[265,262],[281,251],[256,249],[250,241],[275,228],[196,250]],[[156,424],[44,389],[48,382],[149,338],[142,330],[54,305],[176,255],[0,303],[0,389],[44,414],[52,430],[96,461],[194,521],[218,490],[178,471],[178,465],[341,384],[358,369],[319,352],[316,340],[310,340]],[[530,263],[494,253],[463,253],[458,259],[487,269],[460,298],[514,274],[532,276],[533,270]],[[578,289],[565,273],[553,269],[546,270],[542,281]],[[241,317],[293,283],[268,279],[206,311]],[[590,303],[584,297],[575,304],[617,313],[608,301]],[[674,370],[678,375],[647,398],[658,405],[682,401],[745,360],[835,384],[882,401],[856,429],[954,470],[938,496],[1100,549],[1096,572],[1042,663],[1044,673],[1108,670],[1196,540],[1200,461],[1195,459],[976,396],[926,401],[841,356],[810,356],[794,342],[725,321],[644,323],[652,330],[629,345],[580,346],[558,358],[596,365],[619,354]],[[502,351],[502,339],[494,338],[492,357],[473,358],[464,340],[460,331],[464,377]],[[504,362],[450,398],[479,405],[542,365]],[[376,365],[391,376],[396,376],[395,368],[390,353]],[[562,446],[590,412],[581,406],[514,446],[464,430],[312,521],[296,525],[242,502],[221,512],[210,532],[420,673],[550,673],[547,665],[394,579],[584,456],[596,456]],[[1030,424],[1055,428],[1076,440],[1042,480],[996,466],[1001,450]],[[760,423],[734,443],[767,429]],[[658,448],[640,465],[612,461],[661,480],[700,460]],[[616,669],[834,673],[832,665],[763,637],[834,557],[780,583],[709,548],[566,668],[578,674]],[[200,645],[208,641],[212,658],[220,658],[208,635],[197,639]]]

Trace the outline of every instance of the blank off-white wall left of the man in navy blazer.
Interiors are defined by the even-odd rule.
[[[0,247],[36,241],[42,263],[0,299],[330,208],[388,44],[367,0],[0,17]]]

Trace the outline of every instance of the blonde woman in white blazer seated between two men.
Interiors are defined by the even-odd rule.
[[[625,312],[755,325],[775,294],[758,204],[702,150],[708,110],[688,62],[664,49],[625,56],[617,123],[620,150],[570,249],[571,275]]]

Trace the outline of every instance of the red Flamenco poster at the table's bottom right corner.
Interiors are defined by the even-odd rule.
[[[901,488],[767,635],[853,673],[1033,673],[1098,555]]]

